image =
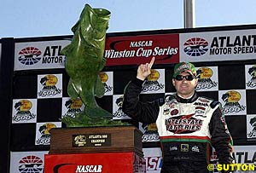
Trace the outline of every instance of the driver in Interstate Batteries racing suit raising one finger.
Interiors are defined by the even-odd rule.
[[[139,122],[156,123],[163,153],[161,172],[209,172],[211,146],[218,153],[219,164],[234,163],[232,139],[220,104],[197,95],[198,79],[193,64],[181,62],[174,66],[175,95],[167,95],[165,100],[139,101],[143,82],[153,64],[154,57],[149,64],[138,66],[137,78],[125,87],[122,110]]]

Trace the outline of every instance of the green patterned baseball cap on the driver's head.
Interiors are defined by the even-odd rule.
[[[177,75],[181,74],[182,72],[189,72],[193,76],[196,77],[196,70],[195,66],[190,62],[179,62],[174,66],[173,77],[176,78]]]

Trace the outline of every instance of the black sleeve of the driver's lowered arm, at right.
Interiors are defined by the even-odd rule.
[[[212,135],[212,147],[215,148],[218,155],[219,164],[234,164],[235,159],[232,156],[233,153],[233,141],[230,136],[230,132],[225,123],[222,110],[213,103],[215,107],[218,107],[212,114],[212,119],[209,124],[210,133]]]

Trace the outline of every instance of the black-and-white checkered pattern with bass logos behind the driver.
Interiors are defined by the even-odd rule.
[[[248,69],[252,68],[255,62],[215,63],[208,62],[205,64],[194,63],[198,72],[200,83],[197,86],[199,95],[211,97],[221,102],[226,114],[226,122],[236,145],[255,144],[256,137],[249,135],[253,131],[251,119],[256,117],[256,81],[254,76],[250,76]],[[213,66],[214,65],[214,66]],[[173,66],[160,66],[154,68],[157,73],[156,78],[148,79],[140,97],[141,101],[152,101],[164,97],[166,94],[175,92],[172,86]],[[49,73],[50,72],[50,73]],[[139,124],[127,117],[121,111],[122,95],[125,85],[136,77],[137,67],[128,66],[122,70],[116,70],[114,67],[106,67],[105,74],[108,80],[105,81],[105,95],[102,98],[96,98],[98,105],[108,112],[113,113],[113,119],[124,119],[126,122],[139,127]],[[44,89],[41,79],[54,75],[58,80],[52,88]],[[68,111],[66,103],[70,99],[67,95],[68,75],[65,69],[45,70],[45,72],[15,72],[14,92],[13,92],[13,118],[21,115],[16,120],[13,119],[11,130],[11,151],[37,151],[49,150],[49,142],[37,143],[38,139],[47,140],[47,133],[40,133],[40,127],[44,124],[54,124],[56,127],[65,127],[61,124],[60,118]],[[45,92],[50,90],[59,90],[60,93],[55,95],[44,96]],[[46,92],[47,93],[47,92]],[[27,107],[19,111],[17,107],[20,101],[27,102]],[[32,103],[29,103],[29,101]],[[16,105],[16,107],[15,107]],[[77,107],[83,109],[83,107]],[[235,111],[236,110],[236,111]],[[20,114],[19,114],[20,113]],[[22,114],[23,113],[23,114]],[[23,115],[23,118],[22,118]],[[31,115],[31,118],[25,118]],[[19,117],[19,116],[18,116]],[[250,123],[251,120],[251,123]],[[145,124],[141,129],[145,129]],[[147,128],[144,131],[147,132]],[[154,134],[155,138],[155,134]],[[254,140],[254,141],[253,141]],[[159,143],[144,140],[144,147],[158,147]]]

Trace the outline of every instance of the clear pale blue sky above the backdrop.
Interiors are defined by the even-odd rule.
[[[184,0],[1,0],[0,37],[72,35],[88,3],[111,12],[108,33],[183,29]],[[255,0],[195,0],[195,28],[256,24]]]

